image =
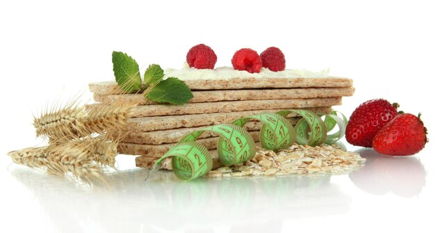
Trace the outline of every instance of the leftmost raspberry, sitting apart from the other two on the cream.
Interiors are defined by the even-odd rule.
[[[195,45],[190,48],[186,55],[186,61],[189,67],[197,69],[213,69],[215,67],[217,56],[215,51],[204,44]]]

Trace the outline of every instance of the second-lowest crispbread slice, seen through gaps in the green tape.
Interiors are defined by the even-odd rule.
[[[258,142],[260,140],[260,132],[259,131],[250,131],[249,134],[254,138],[254,141]],[[219,138],[202,138],[196,140],[197,143],[201,143],[207,149],[216,149],[217,140]],[[120,143],[118,145],[118,152],[120,154],[132,154],[132,155],[146,155],[149,157],[160,158],[163,156],[168,150],[170,150],[177,143],[168,143],[161,145],[141,145],[141,144],[133,144],[133,143]]]

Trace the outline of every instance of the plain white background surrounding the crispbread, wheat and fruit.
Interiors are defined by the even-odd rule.
[[[83,190],[22,166],[6,153],[40,145],[33,115],[47,102],[113,80],[112,51],[179,68],[190,47],[211,46],[217,66],[233,52],[270,46],[287,68],[354,79],[350,115],[382,97],[422,112],[432,138],[435,64],[432,1],[1,1],[1,232],[433,232],[435,158],[360,150],[350,175],[145,183],[143,170]],[[143,73],[143,72],[142,72]],[[343,140],[344,141],[344,140]],[[134,167],[119,156],[120,169]]]

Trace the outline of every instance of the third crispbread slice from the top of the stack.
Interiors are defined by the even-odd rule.
[[[235,111],[268,110],[268,109],[299,109],[317,106],[334,106],[341,104],[341,97],[313,99],[269,99],[223,101],[211,103],[192,103],[179,105],[159,104],[134,106],[131,118],[141,118],[158,115],[187,115],[200,113],[229,113]],[[90,104],[88,109],[107,106],[107,104]]]

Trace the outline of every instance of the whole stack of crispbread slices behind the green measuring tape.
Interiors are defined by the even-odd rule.
[[[202,127],[284,109],[329,113],[332,106],[341,104],[342,97],[354,93],[352,79],[338,77],[192,79],[185,83],[194,97],[182,106],[151,102],[140,93],[124,94],[115,82],[90,83],[97,104],[88,108],[138,103],[118,151],[139,155],[136,166],[151,167],[183,136]],[[293,125],[299,120],[297,115],[287,118]],[[259,141],[261,122],[248,122],[245,129]],[[221,166],[215,150],[217,134],[206,132],[197,142],[211,150],[213,168]],[[169,159],[163,162],[163,168],[172,169]]]

